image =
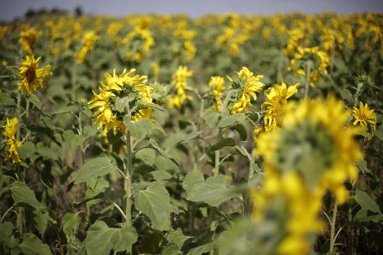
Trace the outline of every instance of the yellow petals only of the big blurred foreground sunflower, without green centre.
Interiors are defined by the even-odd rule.
[[[278,254],[307,254],[311,243],[310,234],[318,233],[322,224],[318,213],[322,206],[322,197],[329,189],[334,193],[339,204],[345,202],[348,192],[344,186],[347,179],[357,178],[355,162],[362,158],[359,145],[354,141],[357,129],[347,127],[350,110],[345,110],[343,101],[329,97],[327,101],[304,100],[293,110],[288,110],[280,129],[260,135],[256,145],[256,154],[263,157],[265,180],[260,191],[252,194],[255,201],[254,217],[263,220],[265,206],[273,197],[282,196],[288,201],[290,217],[286,223],[288,236],[278,247]],[[320,176],[314,187],[304,183],[302,176],[295,169],[281,171],[274,158],[278,153],[283,129],[293,129],[299,123],[312,122],[330,135],[336,150],[336,158]]]

